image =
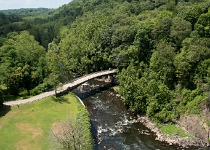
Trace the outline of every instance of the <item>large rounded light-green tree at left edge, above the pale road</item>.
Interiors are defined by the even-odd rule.
[[[38,76],[38,64],[45,51],[35,41],[28,31],[20,34],[8,34],[9,39],[0,48],[0,80],[5,84],[11,94],[19,94],[36,87]],[[44,75],[43,75],[44,76]]]

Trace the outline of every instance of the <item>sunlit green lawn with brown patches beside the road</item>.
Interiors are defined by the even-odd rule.
[[[11,107],[0,117],[0,149],[51,149],[52,124],[85,109],[73,94]],[[76,116],[76,115],[73,115]]]

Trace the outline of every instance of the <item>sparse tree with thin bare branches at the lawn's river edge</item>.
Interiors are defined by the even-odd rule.
[[[68,150],[91,150],[92,141],[87,111],[80,111],[76,117],[63,120],[60,127],[52,131],[56,143]]]

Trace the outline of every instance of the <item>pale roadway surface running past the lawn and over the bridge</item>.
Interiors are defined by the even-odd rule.
[[[91,79],[94,79],[94,78],[97,78],[100,76],[104,76],[104,75],[114,74],[115,72],[116,72],[116,70],[106,70],[106,71],[96,72],[96,73],[88,74],[86,76],[82,76],[68,84],[64,84],[62,86],[61,90],[57,91],[57,94],[68,91],[69,89],[77,87],[78,85],[81,85],[82,83],[85,83]],[[46,98],[46,97],[52,96],[52,95],[55,95],[55,90],[39,94],[39,95],[36,95],[36,96],[28,98],[28,99],[9,101],[9,102],[4,102],[3,104],[7,105],[7,106],[21,105],[21,104],[30,103],[30,102],[33,102],[36,100],[40,100],[40,99],[43,99],[43,98]]]

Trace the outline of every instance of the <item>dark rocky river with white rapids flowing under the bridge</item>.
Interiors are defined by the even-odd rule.
[[[91,132],[95,140],[93,150],[183,149],[156,141],[150,129],[141,123],[132,123],[135,116],[109,85],[100,88],[104,85],[104,82],[91,80],[73,91],[90,113]]]

